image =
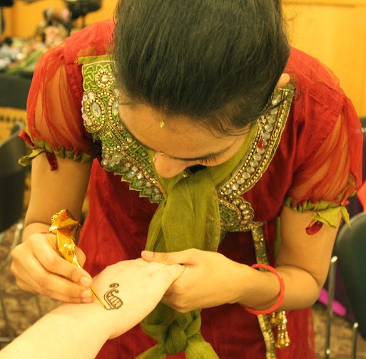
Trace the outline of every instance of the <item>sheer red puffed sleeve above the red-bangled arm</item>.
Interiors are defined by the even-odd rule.
[[[323,124],[322,124],[323,123]],[[300,141],[300,167],[288,192],[293,207],[305,202],[345,204],[362,181],[360,120],[344,96],[340,113],[327,113],[311,121],[308,140]]]

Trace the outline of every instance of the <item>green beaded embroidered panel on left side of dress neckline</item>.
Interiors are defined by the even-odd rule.
[[[146,147],[123,128],[119,121],[118,91],[111,61],[97,61],[83,66],[83,123],[102,145],[101,165],[121,175],[130,188],[160,202],[163,194],[153,175]]]

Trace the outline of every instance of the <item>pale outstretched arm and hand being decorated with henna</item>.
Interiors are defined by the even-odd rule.
[[[93,287],[102,294],[115,284],[118,305],[106,310],[97,301],[64,303],[6,346],[0,359],[95,358],[106,340],[125,333],[153,311],[183,270],[142,259],[108,266],[93,279]]]

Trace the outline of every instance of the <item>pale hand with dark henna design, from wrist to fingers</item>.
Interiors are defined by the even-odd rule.
[[[135,259],[108,266],[94,277],[93,288],[103,298],[107,307],[110,305],[106,301],[106,293],[111,291],[111,284],[115,289],[113,296],[123,301],[122,306],[117,306],[118,308],[113,310],[106,311],[100,307],[99,312],[103,315],[103,321],[108,322],[109,338],[116,338],[140,323],[153,311],[169,286],[183,274],[184,270],[185,267],[178,264],[168,266]],[[118,303],[116,297],[114,303]],[[95,301],[91,305],[96,306],[98,302]]]

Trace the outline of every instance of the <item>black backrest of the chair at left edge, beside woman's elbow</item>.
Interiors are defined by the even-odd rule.
[[[18,137],[24,125],[16,123],[11,135],[0,142],[0,233],[19,221],[23,214],[26,169],[19,157],[26,155],[26,145]]]

